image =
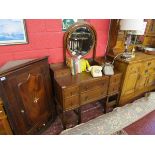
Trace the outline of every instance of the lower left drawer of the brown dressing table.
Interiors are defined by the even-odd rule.
[[[66,111],[78,108],[79,107],[79,96],[77,95],[77,96],[73,96],[70,98],[65,98],[63,106]]]

